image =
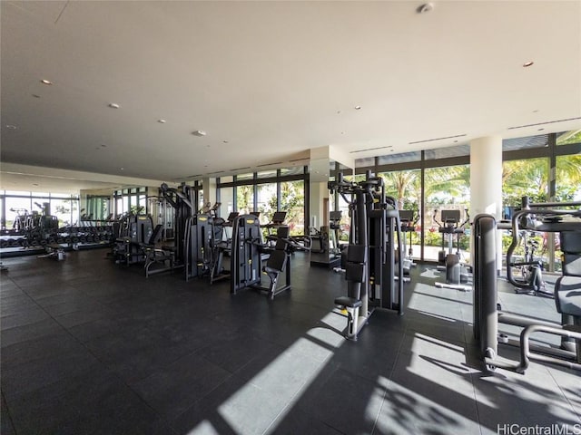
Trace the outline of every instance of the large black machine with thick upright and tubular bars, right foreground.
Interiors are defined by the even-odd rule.
[[[581,205],[581,203],[546,204],[546,206]],[[523,215],[527,210],[522,212]],[[519,216],[517,213],[513,217]],[[581,370],[581,210],[543,210],[545,231],[559,231],[564,243],[563,276],[555,286],[556,311],[561,324],[541,322],[534,318],[499,312],[497,304],[497,222],[490,215],[474,219],[474,337],[480,359],[488,369],[503,368],[524,373],[530,361],[550,362]],[[523,216],[521,215],[521,216]],[[562,242],[563,244],[563,242]],[[517,342],[498,333],[498,323],[523,328]],[[550,333],[561,337],[561,348],[530,343],[533,333]],[[498,356],[498,343],[519,347],[519,362]]]

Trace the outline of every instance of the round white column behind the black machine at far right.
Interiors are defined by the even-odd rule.
[[[470,216],[487,213],[502,218],[502,138],[487,136],[470,141]],[[500,232],[497,265],[502,265]]]

